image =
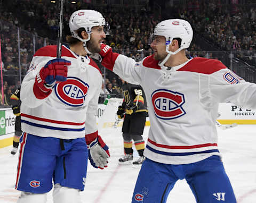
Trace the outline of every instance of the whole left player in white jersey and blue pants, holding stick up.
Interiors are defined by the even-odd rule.
[[[94,167],[107,167],[108,147],[98,135],[94,116],[102,74],[87,56],[100,52],[105,26],[99,12],[76,11],[61,58],[56,58],[57,46],[46,46],[31,61],[20,91],[18,203],[45,203],[52,180],[54,203],[81,203],[88,157]]]

